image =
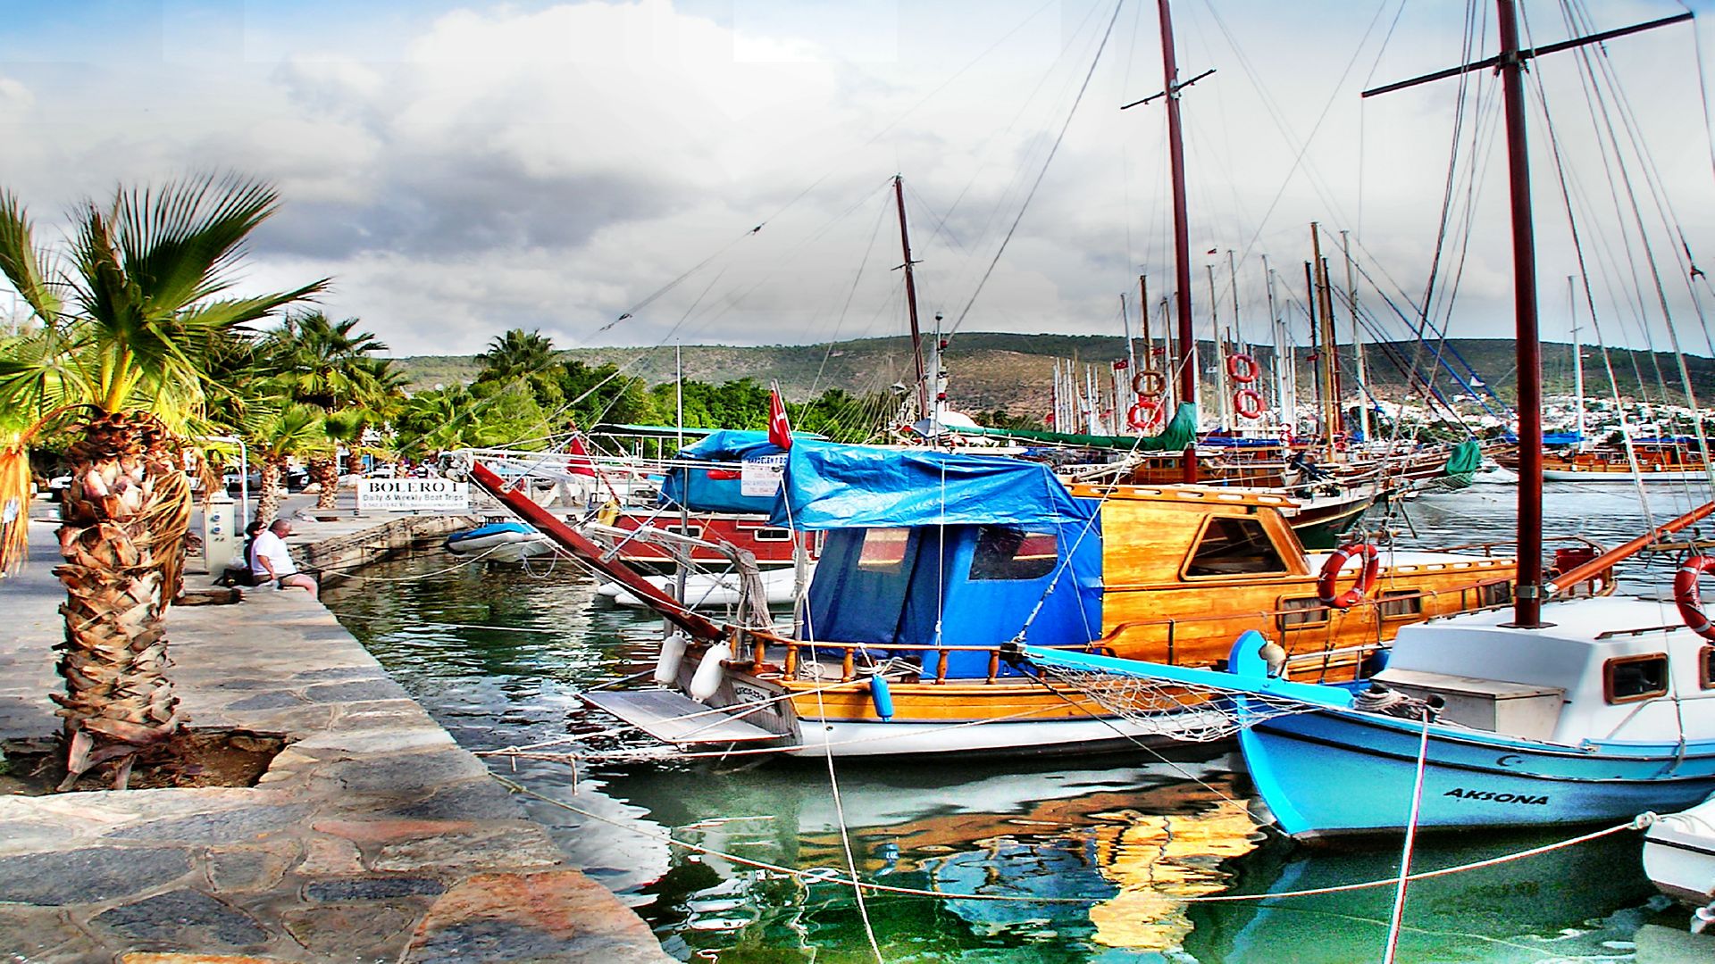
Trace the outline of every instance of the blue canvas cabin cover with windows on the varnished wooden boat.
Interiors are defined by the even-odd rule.
[[[828,530],[803,638],[885,654],[990,647],[1020,630],[1036,645],[1101,636],[1098,503],[1074,497],[1044,465],[794,444],[770,521]],[[948,676],[986,672],[984,652],[948,657]]]

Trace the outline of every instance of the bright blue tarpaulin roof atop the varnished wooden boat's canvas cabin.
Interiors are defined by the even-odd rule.
[[[770,521],[799,530],[918,525],[1082,523],[1074,499],[1034,461],[935,449],[794,443]]]

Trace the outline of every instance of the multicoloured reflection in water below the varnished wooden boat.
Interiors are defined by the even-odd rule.
[[[676,825],[679,839],[797,870],[827,868],[830,877],[847,873],[844,816],[866,880],[945,894],[940,901],[870,897],[888,961],[950,961],[984,947],[995,959],[1031,961],[1039,959],[1031,957],[1031,945],[1072,955],[1176,945],[1187,925],[1175,897],[1226,887],[1225,861],[1254,846],[1255,823],[1231,803],[1243,796],[1240,787],[1228,758],[1218,756],[1091,768],[849,762],[840,767],[839,808],[820,767],[753,768],[743,780],[648,767],[607,779],[604,792],[671,798],[672,811],[657,818]],[[696,947],[737,947],[758,933],[789,930],[818,933],[815,943],[825,954],[832,940],[861,942],[844,883],[782,889],[777,875],[681,854],[648,890],[686,914],[681,933],[696,933]],[[1068,901],[983,899],[996,895]],[[758,913],[758,901],[777,909]],[[876,914],[882,901],[887,911]],[[912,923],[883,923],[900,918]],[[1026,950],[1015,955],[1003,950],[1020,943]]]

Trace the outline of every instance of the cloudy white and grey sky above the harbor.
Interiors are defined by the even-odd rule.
[[[1684,9],[1530,0],[1528,43]],[[1336,276],[1346,230],[1360,300],[1401,334],[1382,293],[1422,297],[1451,163],[1437,290],[1458,298],[1435,317],[1509,333],[1497,84],[1358,98],[1492,53],[1492,15],[1468,41],[1447,0],[1176,5],[1182,77],[1216,70],[1183,101],[1204,331],[1207,266],[1233,324],[1233,252],[1262,340],[1262,259],[1302,298],[1321,221]],[[1547,336],[1576,269],[1557,153],[1604,338],[1667,345],[1648,245],[1686,350],[1710,353],[1677,245],[1715,271],[1712,45],[1681,24],[1533,72]],[[331,276],[331,316],[453,353],[513,326],[563,346],[900,333],[900,173],[926,319],[1118,333],[1137,274],[1152,298],[1171,274],[1161,105],[1120,111],[1159,87],[1142,0],[0,0],[0,184],[51,238],[120,182],[266,177],[283,208],[245,286]]]

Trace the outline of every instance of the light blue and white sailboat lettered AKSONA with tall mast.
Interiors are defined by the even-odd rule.
[[[1499,65],[1511,161],[1521,443],[1511,609],[1403,628],[1386,667],[1362,684],[1290,681],[1255,635],[1235,643],[1225,679],[1089,654],[1022,652],[1048,672],[1111,672],[1206,688],[1197,690],[1204,698],[1228,695],[1252,780],[1297,839],[1629,820],[1715,791],[1715,626],[1698,593],[1698,576],[1715,569],[1715,557],[1682,564],[1674,604],[1556,599],[1592,566],[1612,566],[1710,516],[1715,503],[1569,573],[1544,573],[1525,55],[1514,0],[1497,10],[1501,53],[1468,69]],[[1655,26],[1684,19],[1689,14]]]

